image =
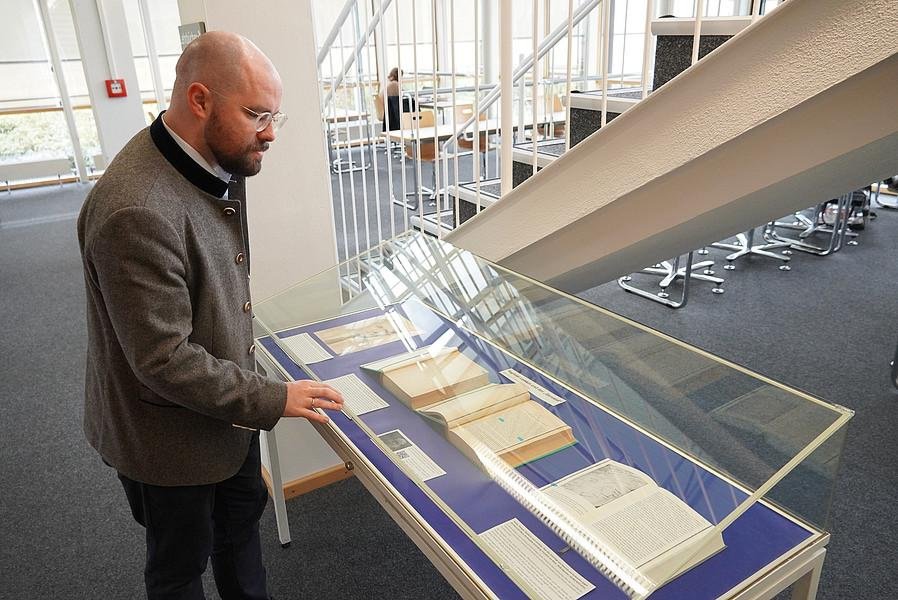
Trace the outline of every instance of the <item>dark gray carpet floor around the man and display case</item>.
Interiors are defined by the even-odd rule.
[[[84,186],[0,198],[0,598],[140,598],[142,531],[114,473],[81,433],[84,291],[74,214]],[[737,363],[857,411],[835,487],[819,598],[898,594],[898,213],[879,211],[861,244],[764,259],[696,285],[679,311],[615,283],[583,296]],[[716,251],[715,251],[716,252]],[[718,255],[719,258],[719,255]],[[721,271],[722,272],[722,271]],[[446,598],[454,592],[355,480],[288,503],[293,544],[262,536],[281,598]],[[217,597],[211,578],[207,593]]]

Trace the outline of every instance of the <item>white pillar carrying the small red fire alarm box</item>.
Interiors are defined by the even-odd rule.
[[[121,0],[105,0],[102,3],[112,61],[117,71],[115,78],[124,79],[128,91],[125,98],[109,98],[106,94],[106,80],[113,78],[113,74],[110,73],[110,62],[103,43],[97,2],[69,0],[69,4],[78,33],[78,48],[94,109],[100,147],[106,158],[112,160],[135,133],[146,127],[125,11]]]

